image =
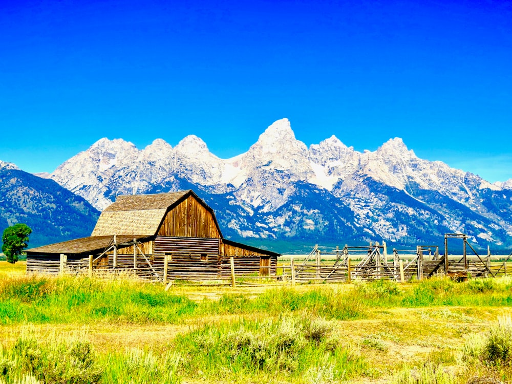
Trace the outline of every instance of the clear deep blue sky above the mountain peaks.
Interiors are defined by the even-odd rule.
[[[101,137],[228,158],[283,117],[512,178],[512,3],[1,2],[0,159],[28,172]]]

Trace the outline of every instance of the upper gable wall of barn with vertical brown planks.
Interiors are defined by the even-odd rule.
[[[188,196],[167,212],[157,235],[215,239],[221,237],[214,216],[194,196]]]

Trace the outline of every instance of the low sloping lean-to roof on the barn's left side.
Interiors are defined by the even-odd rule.
[[[133,241],[133,239],[141,240],[146,236],[133,235],[133,234],[121,234],[116,235],[116,243],[122,244]],[[27,253],[84,253],[102,250],[114,244],[114,236],[90,236],[88,238],[81,238],[75,240],[64,241],[61,243],[55,243],[45,245],[42,247],[27,249]]]

